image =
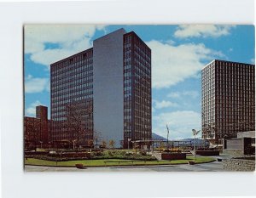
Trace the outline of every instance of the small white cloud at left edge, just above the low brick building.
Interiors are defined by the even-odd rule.
[[[49,79],[28,75],[25,78],[25,93],[49,92]]]

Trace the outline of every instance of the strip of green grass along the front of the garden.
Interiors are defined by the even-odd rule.
[[[193,156],[187,156],[186,160],[176,161],[132,161],[119,159],[102,159],[102,160],[81,160],[81,161],[45,161],[34,158],[25,160],[26,165],[40,165],[40,166],[60,166],[60,167],[75,167],[75,164],[83,164],[85,167],[102,167],[102,166],[127,166],[127,165],[168,165],[168,164],[183,164],[193,160]],[[105,164],[104,161],[113,161]],[[121,161],[120,164],[116,161]],[[196,163],[204,163],[214,161],[214,158],[208,156],[196,157]]]

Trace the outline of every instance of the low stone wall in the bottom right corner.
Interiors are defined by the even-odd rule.
[[[224,170],[227,171],[255,171],[255,160],[247,159],[224,159]]]

